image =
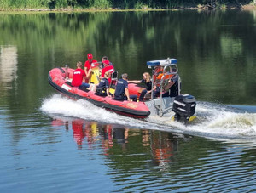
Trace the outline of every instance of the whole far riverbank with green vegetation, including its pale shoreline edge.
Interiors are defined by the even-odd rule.
[[[191,3],[192,2],[192,3]],[[256,9],[256,0],[0,0],[0,12]]]

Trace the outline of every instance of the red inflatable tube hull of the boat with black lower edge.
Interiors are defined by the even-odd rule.
[[[79,89],[72,87],[70,79],[73,78],[74,69],[68,67],[54,68],[49,71],[49,84],[59,91],[61,94],[67,95],[71,99],[85,99],[96,106],[103,107],[109,111],[114,111],[120,115],[132,116],[135,118],[146,118],[150,111],[144,102],[119,101],[105,96],[96,95],[95,92],[88,89]],[[95,71],[96,73],[96,71]],[[137,87],[136,84],[129,84],[130,94],[137,94],[142,88]]]

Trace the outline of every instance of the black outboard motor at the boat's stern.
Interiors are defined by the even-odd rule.
[[[172,111],[175,120],[189,122],[189,117],[195,114],[195,97],[189,94],[178,95],[173,101]]]

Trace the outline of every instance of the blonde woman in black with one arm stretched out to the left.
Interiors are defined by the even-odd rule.
[[[142,90],[140,97],[139,97],[139,101],[143,101],[144,96],[147,94],[149,95],[152,91],[152,81],[151,81],[151,76],[148,72],[144,72],[143,73],[143,80],[141,81],[128,81],[129,83],[144,83],[146,84],[145,89]],[[150,95],[149,95],[150,97]]]

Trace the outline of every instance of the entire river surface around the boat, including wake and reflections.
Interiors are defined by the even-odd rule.
[[[1,192],[255,192],[255,15],[0,13]],[[88,53],[130,79],[176,58],[198,118],[136,120],[50,87]]]

